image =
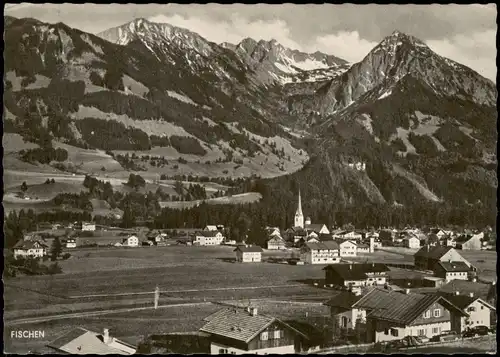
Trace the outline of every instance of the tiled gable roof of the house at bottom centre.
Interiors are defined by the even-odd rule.
[[[207,323],[200,329],[214,335],[228,337],[245,343],[250,342],[261,331],[272,323],[281,324],[297,331],[275,317],[257,314],[252,316],[242,308],[225,308],[204,319]],[[297,331],[303,335],[300,331]]]

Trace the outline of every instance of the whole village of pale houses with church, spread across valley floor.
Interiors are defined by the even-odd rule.
[[[284,321],[263,312],[251,299],[246,304],[233,297],[229,304],[213,299],[219,310],[200,319],[202,326],[190,334],[165,334],[146,346],[144,341],[134,345],[110,337],[107,326],[102,327],[102,333],[75,326],[47,344],[56,353],[133,354],[144,352],[146,347],[149,352],[195,353],[200,352],[196,349],[200,344],[205,346],[202,352],[210,354],[324,353],[342,346],[370,346],[390,352],[496,334],[496,273],[493,279],[485,280],[483,271],[475,266],[480,259],[471,262],[464,257],[468,252],[494,249],[491,230],[329,229],[304,218],[300,192],[294,227],[266,227],[262,247],[227,240],[225,227],[217,224],[175,232],[141,227],[124,230],[92,222],[42,228],[46,229],[26,234],[14,246],[15,259],[44,259],[54,240],[60,241],[66,254],[185,246],[189,256],[189,250],[226,247],[232,251],[232,262],[245,266],[317,266],[314,269],[324,279],[307,284],[321,289],[315,298],[323,298],[320,304],[330,310],[325,331],[321,331],[300,319]],[[61,231],[64,234],[57,235]],[[381,255],[386,253],[408,259],[391,262]],[[162,299],[158,286],[151,296],[151,308],[157,309]],[[203,301],[207,301],[206,296]],[[196,342],[194,350],[179,352],[175,346],[183,345],[179,340],[182,336],[204,342]]]

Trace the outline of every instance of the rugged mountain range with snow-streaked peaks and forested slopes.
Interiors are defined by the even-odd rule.
[[[358,63],[202,35],[146,19],[92,35],[6,17],[4,128],[184,155],[167,173],[291,174],[339,206],[496,205],[497,89],[472,69],[398,31]]]

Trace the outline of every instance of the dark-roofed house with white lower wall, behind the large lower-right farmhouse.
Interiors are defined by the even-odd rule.
[[[335,264],[325,270],[326,284],[345,287],[384,286],[389,268],[382,263]]]

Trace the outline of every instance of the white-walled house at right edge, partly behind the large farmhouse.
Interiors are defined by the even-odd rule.
[[[465,331],[475,326],[493,325],[491,316],[496,314],[496,309],[493,305],[487,303],[474,293],[469,295],[443,295],[446,300],[450,301],[453,305],[465,311],[469,316],[461,316],[460,321],[454,321],[453,324],[460,324],[460,331]],[[458,317],[458,316],[457,316]]]

